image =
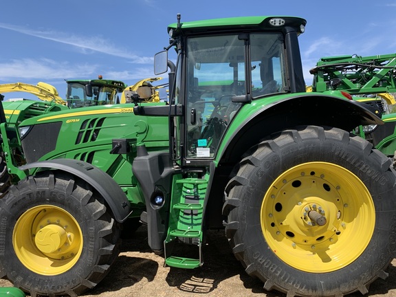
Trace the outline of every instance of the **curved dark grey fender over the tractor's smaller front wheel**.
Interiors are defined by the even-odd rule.
[[[43,168],[62,170],[87,181],[109,204],[116,221],[122,223],[131,214],[131,203],[129,203],[122,188],[110,175],[99,168],[75,159],[52,159],[19,167],[21,170],[35,169],[36,171]]]

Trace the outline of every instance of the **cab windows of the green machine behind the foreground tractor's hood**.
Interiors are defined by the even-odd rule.
[[[87,96],[85,85],[81,83],[67,85],[67,106],[72,109],[117,102],[118,91],[113,87],[92,86],[92,96]]]

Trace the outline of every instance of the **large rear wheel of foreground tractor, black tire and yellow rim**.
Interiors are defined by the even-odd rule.
[[[395,171],[360,137],[318,126],[252,148],[226,187],[246,272],[288,296],[368,292],[396,256]]]

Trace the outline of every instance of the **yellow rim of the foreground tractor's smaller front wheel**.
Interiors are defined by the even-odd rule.
[[[32,272],[56,275],[69,270],[80,258],[83,232],[63,208],[36,206],[18,219],[12,244],[18,259]]]

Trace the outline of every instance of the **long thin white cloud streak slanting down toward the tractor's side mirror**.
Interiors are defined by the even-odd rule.
[[[89,53],[89,51],[101,52],[111,56],[127,58],[131,60],[132,63],[137,64],[153,63],[152,57],[138,56],[128,52],[127,50],[122,50],[119,47],[112,45],[109,40],[103,39],[100,36],[77,36],[74,34],[70,35],[65,32],[56,32],[51,30],[32,30],[19,25],[10,25],[7,23],[0,23],[0,28],[12,30],[14,32],[19,32],[21,34],[34,36],[41,39],[72,45],[74,47],[78,47],[85,53]]]

